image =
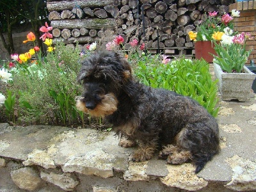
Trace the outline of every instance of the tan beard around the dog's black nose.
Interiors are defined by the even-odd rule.
[[[104,95],[102,100],[97,104],[95,109],[87,109],[85,103],[81,101],[83,97],[77,99],[76,108],[84,113],[90,113],[92,116],[108,116],[113,114],[117,109],[118,100],[113,93]]]

